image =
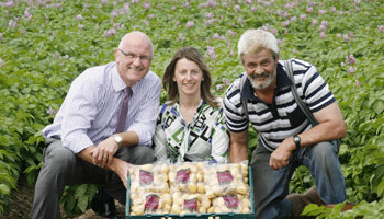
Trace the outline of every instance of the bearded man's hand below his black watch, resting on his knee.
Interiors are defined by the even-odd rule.
[[[279,170],[289,164],[289,159],[292,154],[292,151],[295,150],[295,145],[292,137],[286,138],[281,142],[276,150],[274,150],[269,160],[269,165],[274,170]]]

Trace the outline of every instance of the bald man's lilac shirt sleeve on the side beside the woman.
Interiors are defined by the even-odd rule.
[[[133,130],[138,135],[139,145],[151,145],[155,134],[158,108],[160,104],[161,83],[156,78],[153,83],[146,84],[146,96],[139,107],[139,113],[135,122],[129,126],[128,130]]]

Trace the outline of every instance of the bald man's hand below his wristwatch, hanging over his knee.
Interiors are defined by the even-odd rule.
[[[98,147],[91,150],[92,163],[100,168],[112,164],[113,155],[118,150],[118,145],[112,137],[101,141]]]

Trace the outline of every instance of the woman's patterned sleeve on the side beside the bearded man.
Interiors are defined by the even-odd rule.
[[[212,158],[217,163],[228,163],[229,135],[223,108],[219,108],[212,129]]]

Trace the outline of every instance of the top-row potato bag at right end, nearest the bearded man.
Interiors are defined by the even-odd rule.
[[[203,173],[208,198],[226,194],[249,194],[248,168],[246,164],[207,165]]]

